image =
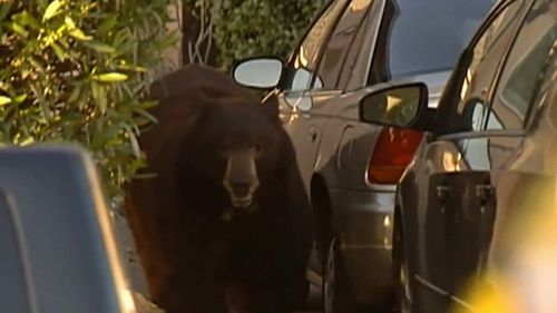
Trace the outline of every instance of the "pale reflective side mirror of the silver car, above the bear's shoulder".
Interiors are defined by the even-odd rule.
[[[240,85],[254,89],[271,89],[278,85],[284,71],[282,60],[273,57],[257,57],[238,62],[232,77]]]

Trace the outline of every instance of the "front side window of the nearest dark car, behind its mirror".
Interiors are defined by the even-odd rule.
[[[456,72],[460,75],[448,86],[450,92],[443,95],[439,105],[438,118],[441,131],[462,133],[482,130],[489,107],[489,88],[497,74],[502,56],[512,39],[520,17],[524,1],[510,2],[500,9],[483,28],[469,48],[466,63],[459,63]],[[456,106],[455,106],[456,104]],[[481,105],[481,106],[479,106]],[[483,108],[478,111],[478,108]],[[499,125],[495,123],[492,125]]]

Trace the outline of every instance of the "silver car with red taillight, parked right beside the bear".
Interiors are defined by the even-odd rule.
[[[317,219],[309,280],[325,312],[390,304],[395,184],[421,133],[360,123],[359,101],[390,84],[423,81],[434,107],[492,1],[334,0],[286,61],[257,57],[237,82],[271,91],[297,153]],[[395,106],[397,98],[382,106]]]

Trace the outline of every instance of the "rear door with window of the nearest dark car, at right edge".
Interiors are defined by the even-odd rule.
[[[487,270],[507,273],[546,271],[539,263],[534,265],[538,268],[527,268],[532,265],[520,264],[519,260],[531,256],[520,253],[525,246],[540,243],[535,239],[532,244],[531,238],[536,236],[532,234],[538,229],[544,232],[541,225],[551,218],[555,209],[557,146],[553,125],[556,120],[555,115],[551,120],[550,108],[555,107],[556,98],[555,94],[550,95],[550,90],[556,85],[556,62],[557,2],[538,0],[512,43],[488,116],[488,121],[495,118],[500,120],[501,129],[492,129],[488,123],[487,133],[497,131],[509,136],[497,136],[489,140],[488,149],[494,159],[491,184],[497,207],[487,253]],[[511,140],[509,137],[522,139]],[[539,257],[536,255],[536,258]],[[538,274],[525,281],[524,291],[529,293],[532,290],[530,281],[539,280],[543,277]],[[489,281],[487,283],[492,284]],[[530,296],[528,294],[526,297]],[[547,299],[540,297],[539,303]]]

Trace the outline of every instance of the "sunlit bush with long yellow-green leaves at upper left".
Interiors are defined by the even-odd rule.
[[[144,165],[140,98],[162,51],[173,0],[0,1],[0,141],[80,143],[113,200]]]

